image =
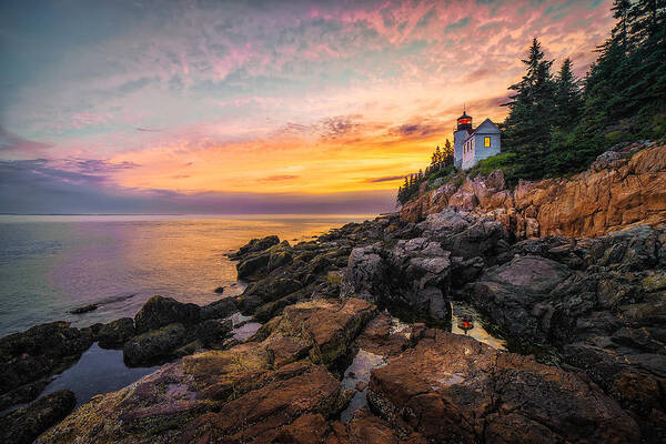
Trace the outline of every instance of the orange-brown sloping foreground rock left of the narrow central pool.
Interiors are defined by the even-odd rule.
[[[167,364],[97,396],[37,442],[280,442],[297,433],[285,430],[290,424],[316,424],[317,415],[329,420],[344,407],[350,393],[326,365],[349,352],[375,314],[361,300],[290,306],[261,342]]]

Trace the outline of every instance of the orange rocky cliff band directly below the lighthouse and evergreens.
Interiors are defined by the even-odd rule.
[[[401,210],[418,222],[446,206],[495,219],[518,239],[595,236],[637,224],[666,222],[666,145],[636,143],[599,155],[572,178],[505,185],[504,174],[466,178],[422,193]]]

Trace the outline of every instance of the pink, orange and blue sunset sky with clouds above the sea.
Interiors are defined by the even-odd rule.
[[[0,212],[376,213],[610,0],[0,3]]]

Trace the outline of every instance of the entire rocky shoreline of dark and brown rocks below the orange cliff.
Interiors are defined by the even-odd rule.
[[[231,258],[249,282],[240,296],[201,307],[153,296],[134,319],[0,340],[3,407],[34,398],[95,341],[131,365],[164,363],[59,423],[61,400],[64,414],[39,413],[41,398],[4,416],[3,442],[56,423],[38,443],[666,440],[664,224],[519,240],[497,218],[446,206],[294,245],[253,240]],[[450,333],[452,301],[508,350]],[[262,323],[248,340],[233,337],[239,311]],[[31,414],[40,427],[19,435]]]

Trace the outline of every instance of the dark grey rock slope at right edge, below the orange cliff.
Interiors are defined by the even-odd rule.
[[[666,437],[666,229],[513,246],[512,261],[468,284],[471,302],[515,337],[555,345]]]

